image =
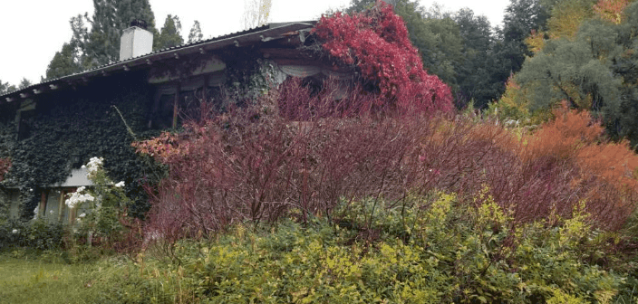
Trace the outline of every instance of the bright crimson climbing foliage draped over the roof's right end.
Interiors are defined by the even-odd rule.
[[[419,52],[412,46],[401,16],[380,1],[361,14],[322,16],[314,33],[322,46],[347,64],[355,64],[363,78],[378,83],[384,99],[405,111],[449,111],[452,94],[436,75],[423,70]]]

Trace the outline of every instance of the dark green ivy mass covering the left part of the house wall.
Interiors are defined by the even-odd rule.
[[[146,127],[152,94],[145,72],[131,72],[34,100],[34,112],[21,123],[28,133],[21,132],[17,141],[14,121],[5,119],[0,124],[0,157],[11,157],[13,166],[3,185],[19,188],[21,217],[33,216],[43,186],[62,183],[91,157],[104,157],[112,179],[126,183],[134,202],[131,214],[148,210],[142,185],[156,180],[159,169],[135,154],[134,138],[115,107],[139,138],[149,137],[158,133]]]

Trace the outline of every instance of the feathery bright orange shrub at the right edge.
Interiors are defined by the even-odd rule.
[[[612,143],[603,137],[604,128],[587,111],[577,112],[566,105],[556,109],[556,119],[527,136],[520,150],[525,162],[552,159],[572,164],[573,195],[585,200],[587,210],[609,228],[619,228],[633,212],[638,198],[638,156],[629,143]],[[602,220],[604,218],[604,220]]]

